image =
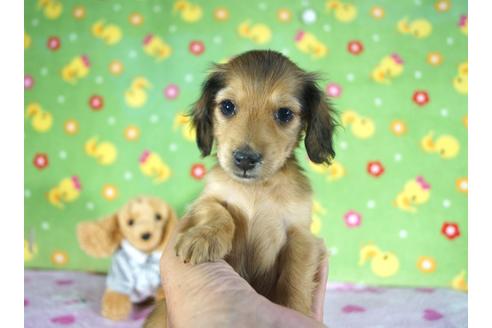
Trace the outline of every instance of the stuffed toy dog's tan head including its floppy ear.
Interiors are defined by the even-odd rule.
[[[80,247],[94,257],[111,256],[126,239],[137,249],[150,253],[163,250],[177,223],[173,209],[152,197],[137,197],[116,213],[77,226]]]

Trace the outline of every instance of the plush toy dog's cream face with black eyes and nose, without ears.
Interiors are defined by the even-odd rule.
[[[147,198],[130,201],[118,213],[118,225],[123,238],[144,252],[156,249],[170,219],[170,210]]]

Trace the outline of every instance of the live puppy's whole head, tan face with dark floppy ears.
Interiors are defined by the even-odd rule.
[[[311,160],[334,155],[333,119],[312,74],[283,55],[252,51],[219,65],[193,110],[204,156],[216,142],[221,167],[235,179],[268,179],[292,156],[303,132]]]

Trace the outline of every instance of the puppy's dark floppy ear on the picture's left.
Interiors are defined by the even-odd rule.
[[[192,122],[196,129],[196,143],[202,156],[210,155],[214,142],[213,109],[216,105],[215,96],[225,85],[224,73],[219,66],[209,74],[202,84],[200,99],[191,110]]]

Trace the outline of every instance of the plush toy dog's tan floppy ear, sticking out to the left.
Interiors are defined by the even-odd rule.
[[[122,235],[116,214],[94,222],[77,225],[80,248],[88,255],[101,258],[111,256],[121,243]]]

